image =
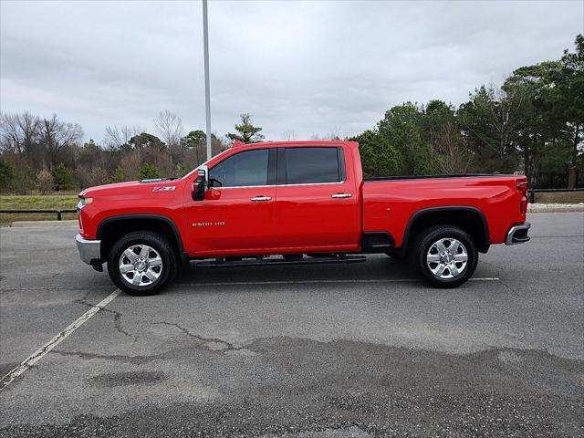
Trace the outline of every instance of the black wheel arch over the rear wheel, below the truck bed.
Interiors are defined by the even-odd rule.
[[[416,235],[433,225],[454,225],[462,228],[474,239],[481,253],[486,253],[491,245],[488,223],[480,209],[466,205],[444,205],[422,208],[412,214],[403,233],[400,254],[406,255]]]

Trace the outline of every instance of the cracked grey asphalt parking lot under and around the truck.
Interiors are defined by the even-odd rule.
[[[454,290],[372,255],[120,294],[0,391],[0,435],[583,436],[584,214],[528,220]],[[0,230],[0,377],[114,292],[76,233]]]

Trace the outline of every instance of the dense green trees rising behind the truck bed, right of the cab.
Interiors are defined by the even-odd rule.
[[[360,141],[364,172],[525,173],[532,185],[584,177],[584,36],[575,52],[517,68],[501,87],[484,85],[457,109],[442,100],[385,112]]]

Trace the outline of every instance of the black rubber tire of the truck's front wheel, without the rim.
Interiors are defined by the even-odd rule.
[[[120,272],[120,257],[126,249],[133,245],[148,245],[162,259],[160,276],[155,281],[152,281],[151,284],[134,286]],[[148,231],[139,231],[120,237],[112,246],[108,255],[108,273],[111,281],[121,290],[133,296],[144,297],[159,293],[172,281],[172,278],[176,275],[177,267],[178,260],[172,243],[162,235]]]

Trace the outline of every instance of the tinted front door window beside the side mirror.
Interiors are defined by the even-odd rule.
[[[267,185],[267,149],[239,152],[209,171],[211,187]]]

